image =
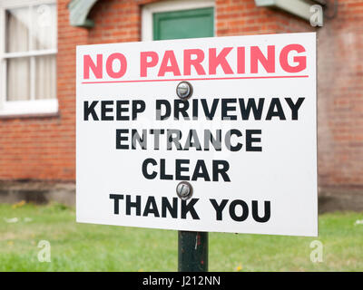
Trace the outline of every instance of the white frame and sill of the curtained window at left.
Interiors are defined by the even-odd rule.
[[[0,0],[0,118],[9,116],[48,115],[58,112],[58,99],[34,100],[34,72],[30,81],[29,101],[7,101],[6,100],[6,59],[25,56],[56,55],[58,53],[57,35],[56,48],[36,50],[21,53],[5,53],[5,11],[7,9],[33,6],[33,5],[57,5],[56,0]],[[55,15],[57,16],[57,14]],[[57,21],[55,22],[57,23]],[[57,34],[57,27],[55,29]],[[29,35],[31,37],[31,35]],[[30,58],[34,62],[34,57]],[[34,63],[31,65],[34,68]]]

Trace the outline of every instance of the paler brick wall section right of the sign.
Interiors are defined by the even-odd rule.
[[[363,188],[363,1],[319,29],[319,185]]]

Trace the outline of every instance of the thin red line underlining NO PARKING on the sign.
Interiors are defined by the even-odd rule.
[[[218,81],[218,80],[252,80],[252,79],[291,79],[309,78],[309,75],[274,75],[274,76],[240,76],[224,78],[194,78],[194,79],[161,79],[161,80],[129,80],[129,81],[101,81],[101,82],[82,82],[87,83],[117,83],[117,82],[182,82],[182,81]]]

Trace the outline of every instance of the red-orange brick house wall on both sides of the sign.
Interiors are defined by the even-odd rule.
[[[139,41],[141,5],[155,1],[99,1],[90,30],[69,25],[68,2],[58,1],[59,115],[0,120],[0,179],[75,179],[75,45]],[[319,186],[363,188],[363,1],[338,1],[315,29],[253,0],[216,0],[218,36],[307,31],[319,37]]]

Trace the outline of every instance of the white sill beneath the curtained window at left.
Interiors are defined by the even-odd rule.
[[[58,100],[35,100],[4,102],[0,118],[47,116],[58,113]]]

